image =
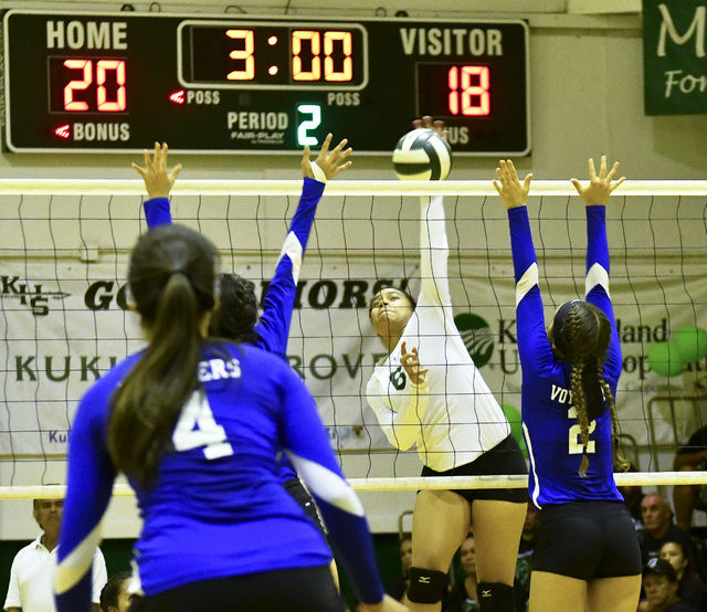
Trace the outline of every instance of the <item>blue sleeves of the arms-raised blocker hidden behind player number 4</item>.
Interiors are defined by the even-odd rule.
[[[304,179],[302,198],[292,218],[289,232],[277,260],[275,275],[267,286],[263,299],[263,313],[253,331],[257,335],[255,346],[265,349],[283,359],[287,358],[287,340],[292,310],[297,293],[297,279],[302,258],[307,247],[309,232],[317,212],[317,204],[324,193],[325,183],[310,178]],[[171,223],[172,217],[167,198],[155,198],[145,202],[145,218],[148,228]],[[281,478],[283,482],[295,478],[292,463],[285,455],[281,461]]]

